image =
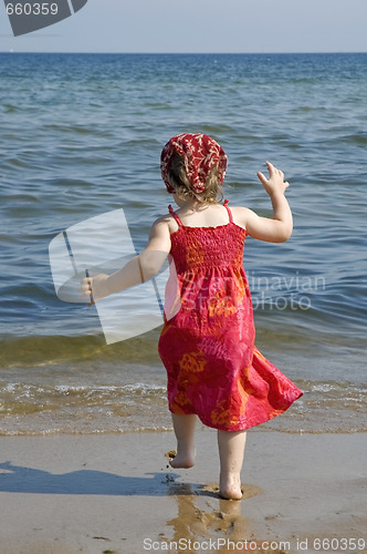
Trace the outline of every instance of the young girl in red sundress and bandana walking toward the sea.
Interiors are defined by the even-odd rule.
[[[161,176],[178,206],[153,225],[147,247],[124,268],[82,281],[98,300],[156,275],[170,254],[180,308],[162,328],[158,350],[168,376],[168,401],[177,438],[172,468],[195,463],[195,425],[218,430],[220,495],[240,500],[245,430],[284,412],[302,391],[254,346],[251,296],[242,255],[244,239],[282,243],[292,234],[289,183],[271,163],[273,218],[221,205],[227,168],[221,146],[203,134],[172,137],[161,153]],[[166,310],[167,314],[167,310]]]

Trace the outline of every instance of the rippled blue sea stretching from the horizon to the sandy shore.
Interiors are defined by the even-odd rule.
[[[232,206],[272,216],[266,161],[290,183],[292,237],[248,237],[244,268],[256,347],[304,396],[256,429],[366,431],[367,53],[1,53],[0,434],[171,429],[157,302],[135,287],[134,332],[108,342],[95,306],[57,296],[50,244],[123,211],[140,252],[182,132],[222,145]]]

